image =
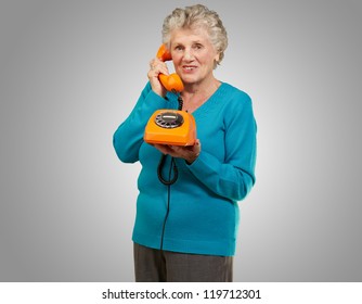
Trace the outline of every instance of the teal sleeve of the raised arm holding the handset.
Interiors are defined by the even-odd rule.
[[[156,94],[150,83],[127,119],[120,124],[113,136],[113,145],[118,159],[124,163],[139,161],[139,150],[143,143],[144,128],[151,115],[165,106],[165,99]]]

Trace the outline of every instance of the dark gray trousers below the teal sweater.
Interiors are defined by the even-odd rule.
[[[137,282],[232,282],[233,257],[160,251],[133,243]]]

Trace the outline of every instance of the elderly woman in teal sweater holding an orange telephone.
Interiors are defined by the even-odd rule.
[[[237,201],[255,183],[256,122],[251,100],[214,76],[228,46],[218,14],[204,5],[176,9],[164,21],[163,42],[184,89],[182,110],[192,113],[197,140],[191,147],[148,144],[143,135],[158,109],[177,109],[155,58],[133,111],[114,134],[121,162],[140,161],[139,197],[132,240],[135,281],[232,281],[238,227]],[[157,178],[166,155],[164,176]]]

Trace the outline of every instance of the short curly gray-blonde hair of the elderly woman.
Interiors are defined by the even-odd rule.
[[[216,67],[224,56],[224,51],[228,47],[228,34],[218,13],[203,4],[174,9],[164,21],[161,31],[163,42],[169,49],[171,31],[173,29],[194,28],[197,26],[203,26],[207,29],[210,41],[219,53],[220,58],[215,65]]]

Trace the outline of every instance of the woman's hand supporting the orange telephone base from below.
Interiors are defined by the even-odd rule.
[[[168,154],[172,157],[184,159],[189,165],[191,165],[199,155],[202,150],[202,144],[198,139],[196,139],[193,145],[170,145],[170,144],[153,144],[157,150],[164,154]]]

